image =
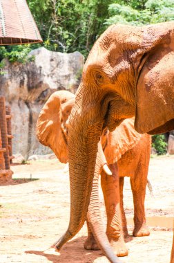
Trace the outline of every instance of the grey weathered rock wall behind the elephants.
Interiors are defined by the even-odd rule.
[[[84,57],[79,52],[65,54],[38,48],[29,53],[35,61],[21,64],[4,60],[0,95],[12,109],[13,154],[25,158],[47,154],[35,136],[39,112],[51,93],[66,89],[75,93],[80,82]]]

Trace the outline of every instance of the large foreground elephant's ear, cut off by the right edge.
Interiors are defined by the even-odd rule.
[[[158,134],[174,129],[174,23],[147,26],[142,37],[135,129]]]

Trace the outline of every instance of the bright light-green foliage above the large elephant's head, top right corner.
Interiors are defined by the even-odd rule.
[[[173,0],[115,1],[108,8],[106,25],[115,23],[142,26],[174,20]]]

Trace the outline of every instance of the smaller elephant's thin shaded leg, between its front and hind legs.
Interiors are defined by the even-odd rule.
[[[122,215],[122,228],[123,228],[124,237],[127,237],[128,228],[127,228],[126,215],[124,212],[123,188],[124,188],[124,177],[119,177],[119,194],[120,194],[120,210]]]

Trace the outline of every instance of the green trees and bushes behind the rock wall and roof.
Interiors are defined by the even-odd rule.
[[[1,47],[0,61],[8,57],[10,62],[24,63],[31,49],[39,46],[63,53],[79,51],[87,57],[95,40],[111,24],[142,26],[174,20],[173,0],[27,1],[43,44]]]

